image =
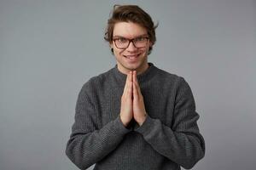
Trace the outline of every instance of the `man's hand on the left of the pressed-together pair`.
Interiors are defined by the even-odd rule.
[[[125,88],[121,98],[120,119],[127,127],[132,119],[132,71],[126,77]]]

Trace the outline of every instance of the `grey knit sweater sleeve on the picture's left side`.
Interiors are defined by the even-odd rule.
[[[80,169],[101,161],[117,147],[125,133],[130,132],[119,116],[99,129],[94,102],[87,92],[88,87],[84,86],[79,93],[75,122],[66,148],[66,155]]]

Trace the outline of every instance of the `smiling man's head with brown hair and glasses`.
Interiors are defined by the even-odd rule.
[[[109,42],[119,69],[143,71],[148,65],[155,38],[154,22],[136,5],[114,5],[105,40]]]

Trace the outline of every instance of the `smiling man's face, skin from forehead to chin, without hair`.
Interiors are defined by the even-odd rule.
[[[142,41],[143,38],[148,38],[148,33],[145,28],[139,26],[136,23],[132,22],[119,22],[116,23],[113,27],[113,39],[119,38],[119,42],[123,42],[122,38],[133,39],[137,38],[136,41],[138,44]],[[135,41],[134,41],[135,42]],[[143,48],[139,47],[136,44],[135,47],[133,42],[130,42],[129,46],[124,49],[120,49],[116,46],[117,43],[110,43],[111,48],[113,48],[113,54],[117,60],[117,65],[119,71],[127,74],[129,71],[136,70],[138,73],[141,73],[148,68],[148,50],[152,46],[152,43],[149,39],[146,39],[145,45]]]

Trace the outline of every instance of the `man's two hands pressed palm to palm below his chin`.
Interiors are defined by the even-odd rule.
[[[137,82],[136,71],[130,71],[127,74],[120,110],[120,119],[125,127],[128,126],[132,118],[134,118],[140,126],[142,126],[143,122],[146,120],[143,94]]]

